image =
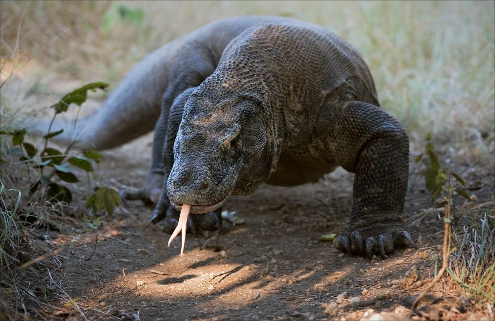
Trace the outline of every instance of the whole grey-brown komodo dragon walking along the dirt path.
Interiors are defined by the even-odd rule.
[[[313,182],[340,165],[355,173],[353,206],[334,246],[369,257],[415,246],[400,217],[407,134],[379,108],[361,55],[321,26],[269,16],[210,23],[148,55],[76,131],[81,147],[101,150],[153,125],[145,186],[123,197],[157,201],[151,221],[165,218],[169,232],[174,208],[206,213],[191,227],[219,227],[230,195]]]

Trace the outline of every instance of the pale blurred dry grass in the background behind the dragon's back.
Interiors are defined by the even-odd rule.
[[[283,15],[357,48],[382,107],[412,138],[493,142],[494,9],[494,1],[1,1],[1,82],[11,73],[22,81],[2,88],[2,105],[55,101],[68,80],[114,88],[146,54],[205,23]]]

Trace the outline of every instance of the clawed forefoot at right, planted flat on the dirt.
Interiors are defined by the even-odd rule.
[[[334,240],[334,247],[344,253],[367,255],[370,259],[378,252],[385,259],[396,245],[410,245],[418,249],[411,235],[401,226],[360,230],[340,234]]]

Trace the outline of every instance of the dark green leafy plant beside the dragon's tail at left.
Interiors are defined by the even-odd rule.
[[[96,92],[97,89],[104,90],[106,87],[108,87],[108,84],[104,82],[89,83],[68,93],[56,104],[51,105],[50,108],[53,108],[54,114],[49,124],[48,133],[43,136],[45,143],[41,149],[25,141],[25,135],[27,133],[25,128],[13,131],[3,130],[0,132],[0,134],[10,135],[12,145],[14,147],[18,146],[19,160],[35,168],[39,173],[38,179],[30,188],[30,193],[41,189],[42,194],[46,195],[51,202],[70,203],[72,201],[71,191],[67,186],[61,185],[58,182],[79,182],[79,179],[73,172],[74,167],[81,168],[87,173],[94,172],[93,164],[99,163],[104,157],[103,155],[94,150],[77,154],[70,153],[75,142],[69,144],[66,150],[61,152],[49,147],[49,140],[63,132],[63,129],[51,131],[53,122],[58,114],[66,112],[71,104],[81,106],[85,103],[88,98],[88,91]],[[119,203],[120,198],[115,189],[99,187],[94,194],[89,196],[86,205],[87,207],[91,207],[94,213],[104,209],[108,214],[113,214],[115,207]]]

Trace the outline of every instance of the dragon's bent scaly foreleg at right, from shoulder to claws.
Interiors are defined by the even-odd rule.
[[[334,246],[342,252],[385,257],[395,245],[416,245],[400,217],[409,172],[409,139],[398,121],[371,104],[335,108],[329,134],[331,152],[355,173],[347,233]]]

